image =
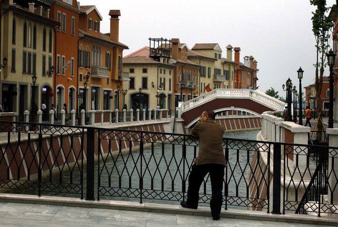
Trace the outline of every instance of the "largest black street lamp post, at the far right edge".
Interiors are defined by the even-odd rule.
[[[330,83],[330,94],[329,94],[329,121],[328,121],[328,128],[332,129],[334,127],[334,74],[333,68],[336,61],[336,54],[332,49],[330,49],[329,53],[326,54],[328,57],[328,65],[330,67],[330,76],[329,76],[329,83]]]

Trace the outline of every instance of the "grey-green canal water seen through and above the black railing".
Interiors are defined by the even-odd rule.
[[[235,138],[236,140],[240,139],[250,139],[256,140],[256,136],[259,130],[253,131],[241,131],[241,132],[226,132],[225,137],[228,138]],[[228,195],[234,197],[246,197],[247,196],[247,177],[248,177],[248,163],[251,163],[252,156],[254,151],[251,152],[238,152],[236,147],[232,147],[233,149],[229,149],[229,168],[231,168],[232,175],[228,173]],[[198,147],[197,147],[198,149]],[[186,146],[186,163],[191,165],[194,159],[194,153],[196,153],[196,146]],[[139,164],[139,160],[136,160],[138,157],[138,152],[132,153],[131,155],[126,155],[125,157],[117,157],[108,158],[106,160],[106,165],[103,166],[101,162],[101,186],[112,186],[112,187],[122,187],[122,188],[138,188],[139,186],[139,174],[137,173],[139,170],[135,169],[135,163]],[[174,155],[174,159],[172,156]],[[152,188],[155,191],[161,191],[162,189],[165,191],[170,191],[174,189],[175,191],[181,191],[182,189],[182,168],[179,164],[179,161],[182,160],[182,146],[181,145],[172,145],[172,144],[165,144],[164,147],[162,145],[155,145],[153,148],[145,148],[144,149],[144,162],[145,165],[144,172],[144,182],[143,188],[149,189]],[[175,163],[176,162],[176,163]],[[98,185],[98,163],[95,163],[95,191],[97,191]],[[166,171],[169,166],[169,171]],[[177,168],[177,166],[180,166]],[[179,171],[177,171],[179,169]],[[188,173],[185,170],[184,178],[187,179]],[[86,176],[86,168],[84,167],[84,176]],[[121,176],[118,179],[115,176]],[[72,180],[70,180],[72,178]],[[230,178],[230,180],[229,180]],[[245,179],[244,179],[245,178]],[[86,187],[86,178],[84,178],[84,197],[85,187]],[[159,180],[160,179],[160,180]],[[161,179],[165,179],[165,181],[161,181]],[[47,179],[45,179],[47,180]],[[54,175],[53,180],[58,182],[59,176]],[[210,180],[205,186],[201,186],[200,193],[203,193],[204,190],[211,193],[211,185]],[[62,182],[72,182],[72,183],[79,183],[80,182],[80,174],[79,171],[73,171],[73,173],[69,173],[66,171],[62,172]],[[163,183],[161,183],[163,182]],[[117,186],[116,186],[117,185]],[[186,182],[186,189],[188,183]],[[109,188],[109,187],[107,187]],[[106,188],[102,191],[104,192]],[[19,193],[27,193],[31,194],[32,191],[20,191]],[[127,191],[126,193],[117,192],[120,195],[132,194],[132,191]],[[165,202],[171,204],[178,204],[177,201],[170,201],[170,200],[159,200],[161,195],[157,196],[156,192],[153,192],[155,195],[153,197],[157,199],[146,199],[143,200],[144,202]],[[57,195],[57,196],[72,196],[77,197],[76,194],[69,194],[69,192],[42,192],[43,195]],[[106,193],[107,195],[108,193]],[[137,193],[136,193],[137,194]],[[126,200],[126,201],[140,201],[139,195],[138,198],[128,198],[128,197],[121,197],[121,196],[106,196],[100,195],[100,199],[114,199],[114,200]],[[95,194],[97,198],[97,192]],[[150,196],[151,197],[151,196]],[[168,199],[168,197],[166,197]],[[201,206],[209,206],[209,204],[200,203]],[[231,206],[229,206],[231,207]],[[237,209],[239,207],[236,207]],[[246,209],[243,207],[243,209]]]

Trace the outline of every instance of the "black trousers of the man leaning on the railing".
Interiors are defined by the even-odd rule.
[[[209,173],[211,181],[212,197],[210,209],[213,217],[220,216],[223,202],[223,179],[225,166],[221,164],[193,164],[188,179],[187,204],[192,207],[198,207],[199,190],[204,177]]]

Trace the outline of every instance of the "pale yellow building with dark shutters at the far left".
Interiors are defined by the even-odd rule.
[[[1,71],[0,100],[5,111],[23,114],[34,103],[50,109],[53,97],[52,62],[54,62],[54,28],[47,1],[9,0],[8,11],[1,19],[1,58],[8,59]],[[35,85],[32,77],[36,76]],[[36,110],[36,109],[35,109]]]

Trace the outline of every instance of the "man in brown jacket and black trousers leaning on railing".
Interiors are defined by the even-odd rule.
[[[227,166],[223,151],[224,131],[225,128],[215,122],[213,110],[204,111],[200,122],[191,130],[191,136],[199,137],[199,151],[188,178],[187,201],[181,202],[184,208],[197,209],[200,186],[209,173],[212,190],[210,209],[215,221],[220,219],[224,169]]]

